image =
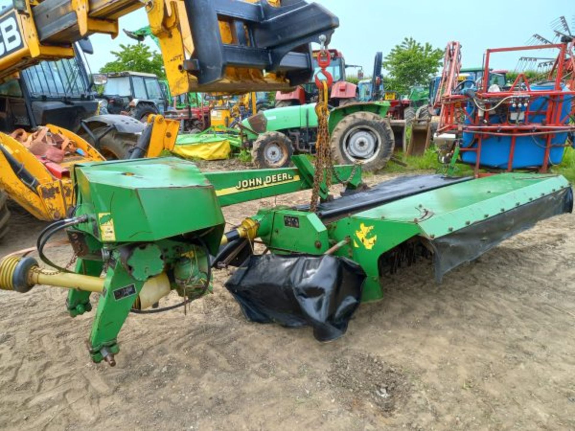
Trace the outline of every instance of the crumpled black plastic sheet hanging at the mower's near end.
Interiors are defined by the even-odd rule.
[[[225,287],[254,322],[313,326],[319,341],[341,337],[359,306],[365,272],[335,256],[251,256]]]

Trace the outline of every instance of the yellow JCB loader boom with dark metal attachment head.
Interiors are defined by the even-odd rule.
[[[118,18],[145,3],[172,94],[286,90],[313,74],[310,43],[339,20],[304,0],[44,0],[0,13],[0,80],[25,67],[72,57],[91,34],[116,37]],[[78,7],[75,7],[78,6]],[[6,33],[6,34],[5,34]]]

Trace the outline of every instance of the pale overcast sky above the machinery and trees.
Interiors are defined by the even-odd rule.
[[[344,53],[348,64],[364,67],[371,74],[376,51],[384,56],[413,37],[422,43],[444,49],[450,40],[463,46],[463,66],[480,66],[486,48],[523,45],[531,34],[553,37],[551,21],[568,17],[575,27],[575,0],[482,0],[446,2],[428,0],[316,0],[339,17],[331,47]],[[0,5],[8,3],[0,0]],[[147,24],[143,9],[121,18],[120,28],[136,30]],[[575,28],[573,29],[575,33]],[[97,72],[113,60],[110,51],[123,44],[135,43],[122,32],[112,40],[109,36],[91,37],[95,54],[88,56],[91,70]],[[155,45],[148,43],[151,47]],[[532,54],[539,56],[537,54]],[[542,56],[549,56],[544,53]],[[518,55],[498,55],[494,68],[515,68]]]

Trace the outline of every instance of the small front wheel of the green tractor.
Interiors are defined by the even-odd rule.
[[[252,160],[260,169],[285,168],[292,163],[292,155],[292,141],[280,132],[260,134],[252,148]]]

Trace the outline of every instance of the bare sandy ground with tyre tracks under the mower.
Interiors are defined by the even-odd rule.
[[[273,203],[225,214],[239,222]],[[43,227],[13,211],[0,256]],[[66,292],[0,293],[0,428],[575,429],[574,221],[543,222],[441,285],[425,261],[401,271],[328,344],[247,322],[219,271],[187,315],[129,317],[110,368],[91,363],[93,315],[68,317]]]

